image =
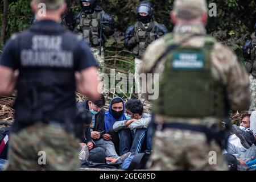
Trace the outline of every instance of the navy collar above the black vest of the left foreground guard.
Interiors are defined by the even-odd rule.
[[[40,20],[33,24],[30,28],[32,31],[65,31],[65,28],[61,26],[59,22],[55,22],[54,20]]]

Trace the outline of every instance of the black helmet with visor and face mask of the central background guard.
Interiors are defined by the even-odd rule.
[[[140,13],[147,13],[147,16],[141,16]],[[140,2],[136,9],[136,15],[142,23],[149,23],[153,16],[153,7],[151,2]]]

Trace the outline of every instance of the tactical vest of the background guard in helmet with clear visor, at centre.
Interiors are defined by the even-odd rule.
[[[138,45],[133,48],[133,54],[139,59],[142,58],[147,46],[156,40],[159,36],[159,27],[157,22],[150,22],[151,31],[146,31],[140,22],[135,23],[135,38]]]

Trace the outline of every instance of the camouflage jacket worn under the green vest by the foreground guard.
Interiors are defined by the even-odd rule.
[[[200,34],[202,36],[193,36],[184,45],[193,47],[203,47],[205,42],[206,30],[202,24],[186,24],[177,25],[174,28],[174,42],[179,43],[181,40],[191,36],[192,34]],[[160,38],[148,46],[141,67],[141,73],[150,72],[154,67],[156,60],[166,50],[166,42]],[[219,80],[222,84],[226,85],[228,94],[228,104],[230,109],[233,110],[246,110],[250,105],[250,82],[245,68],[242,67],[237,56],[226,46],[220,43],[215,43],[211,52],[211,72],[214,79]],[[154,69],[154,73],[161,73],[164,70],[164,62],[162,59],[158,66]],[[161,89],[161,88],[160,88]],[[156,121],[163,121],[164,116],[156,115]],[[172,119],[172,118],[168,118]],[[206,119],[206,120],[205,120]],[[216,120],[217,119],[217,120]],[[189,123],[206,123],[205,121],[216,123],[220,118],[189,118]],[[175,118],[179,122],[179,118]],[[203,121],[203,122],[202,122]],[[184,118],[180,118],[180,122],[185,122]]]

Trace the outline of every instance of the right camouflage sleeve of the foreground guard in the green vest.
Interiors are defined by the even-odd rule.
[[[247,110],[250,106],[250,81],[237,56],[220,43],[212,51],[213,76],[227,86],[230,109]]]

